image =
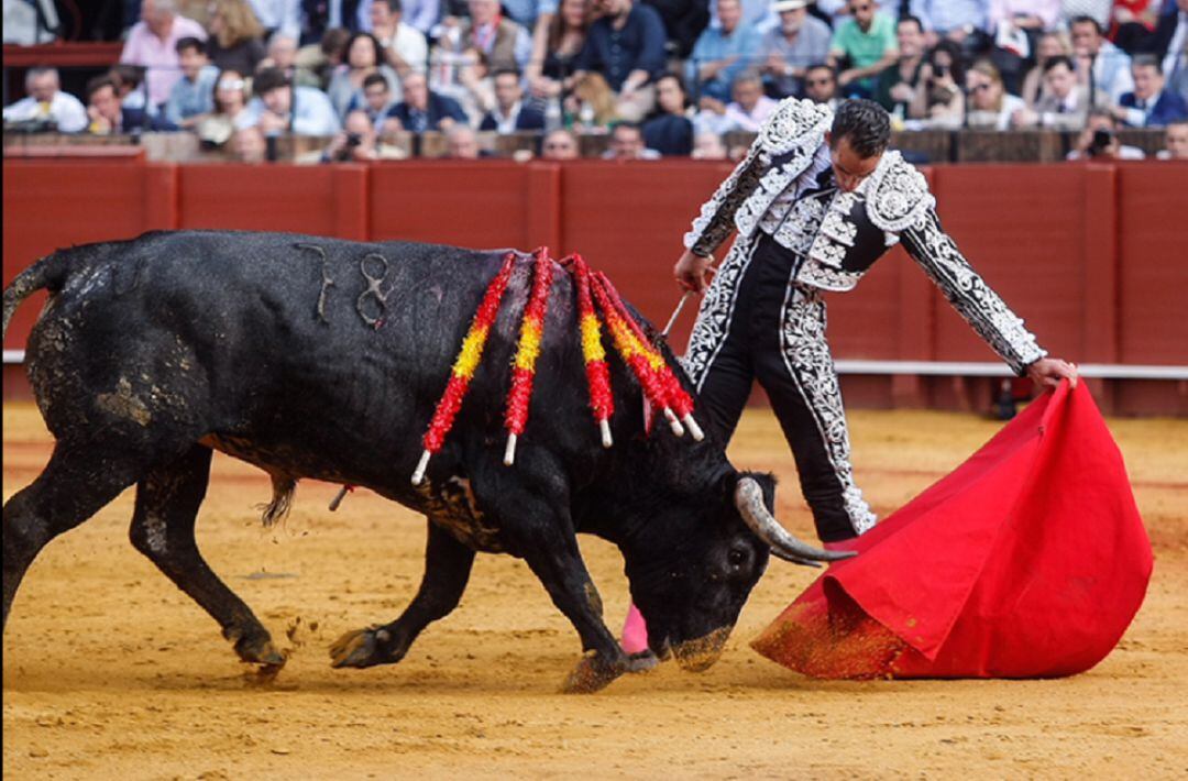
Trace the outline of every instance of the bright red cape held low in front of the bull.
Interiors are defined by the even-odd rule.
[[[817,678],[1089,669],[1151,577],[1125,466],[1081,383],[1028,407],[874,529],[752,643]]]

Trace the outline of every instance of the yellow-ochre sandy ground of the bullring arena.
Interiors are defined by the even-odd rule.
[[[860,484],[880,515],[998,423],[855,412]],[[480,556],[462,605],[393,667],[330,669],[340,634],[403,610],[424,521],[366,491],[331,514],[304,483],[264,530],[268,481],[216,455],[198,519],[214,569],[292,656],[245,674],[217,626],[127,538],[133,492],[53,542],[4,638],[4,771],[20,779],[1184,777],[1188,775],[1188,421],[1114,420],[1156,553],[1138,618],[1095,669],[1043,681],[821,682],[747,642],[814,578],[772,561],[709,672],[665,665],[588,697],[557,688],[579,642],[527,568]],[[4,495],[45,464],[29,404],[4,408]],[[786,446],[751,410],[740,467],[781,478],[779,515],[813,538]],[[627,605],[618,552],[582,548],[608,623]]]

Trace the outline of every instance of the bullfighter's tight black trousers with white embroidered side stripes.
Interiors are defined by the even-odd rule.
[[[791,282],[802,260],[766,233],[740,237],[702,302],[685,367],[723,443],[759,380],[796,460],[817,536],[836,542],[873,527],[874,515],[854,485],[824,301],[819,289]]]

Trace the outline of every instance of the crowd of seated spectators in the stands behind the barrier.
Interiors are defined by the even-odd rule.
[[[6,127],[179,131],[257,156],[403,155],[393,132],[535,132],[546,157],[725,157],[779,99],[870,97],[897,130],[1051,128],[1072,157],[1188,121],[1188,0],[129,0],[120,64],[80,97],[48,68]],[[84,105],[86,103],[86,105]],[[261,139],[265,139],[261,141]],[[1138,152],[1142,155],[1140,152]]]

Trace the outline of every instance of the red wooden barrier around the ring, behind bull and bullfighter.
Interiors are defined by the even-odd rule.
[[[696,160],[373,166],[5,160],[4,279],[56,247],[151,228],[293,231],[359,240],[580,251],[649,317],[680,291],[672,264],[729,166]],[[1082,363],[1188,364],[1188,165],[962,165],[928,171],[946,228],[1044,346]],[[719,257],[725,252],[719,253]],[[924,275],[893,250],[830,296],[839,358],[993,360]],[[693,307],[690,307],[691,309]],[[37,303],[5,339],[24,346]],[[683,348],[693,314],[672,344]],[[10,372],[6,372],[6,395]],[[1183,384],[1097,383],[1106,407],[1184,410]],[[918,377],[847,378],[849,399],[950,405],[963,389]]]

